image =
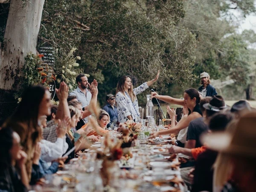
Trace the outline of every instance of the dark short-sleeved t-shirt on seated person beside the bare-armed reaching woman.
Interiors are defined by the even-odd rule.
[[[203,117],[194,119],[189,123],[186,140],[195,140],[195,148],[201,147],[202,144],[199,140],[199,137],[204,131],[207,130],[209,130],[209,128],[204,123]]]

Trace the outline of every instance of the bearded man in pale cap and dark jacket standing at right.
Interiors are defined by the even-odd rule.
[[[198,91],[202,93],[203,97],[214,96],[218,94],[215,88],[212,87],[212,85],[210,85],[211,81],[208,73],[206,72],[201,73],[200,78],[201,78],[202,86],[198,88]]]

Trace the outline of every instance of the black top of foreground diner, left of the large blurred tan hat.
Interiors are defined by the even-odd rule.
[[[195,161],[194,183],[191,192],[212,192],[213,169],[218,152],[207,149]]]

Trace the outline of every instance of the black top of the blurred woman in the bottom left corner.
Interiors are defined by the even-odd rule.
[[[0,170],[0,191],[3,192],[26,192],[26,186],[20,180],[15,168],[10,166]]]

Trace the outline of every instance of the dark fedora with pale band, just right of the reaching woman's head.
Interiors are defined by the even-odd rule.
[[[225,104],[222,96],[215,95],[215,96],[212,96],[212,99],[210,100],[210,102],[205,103],[203,107],[210,111],[221,111],[227,108],[227,105]]]

